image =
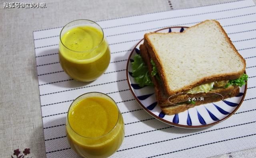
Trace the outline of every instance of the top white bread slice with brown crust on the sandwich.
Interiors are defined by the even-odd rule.
[[[144,45],[154,60],[168,96],[201,84],[239,78],[246,68],[216,20],[206,20],[181,33],[148,33]]]

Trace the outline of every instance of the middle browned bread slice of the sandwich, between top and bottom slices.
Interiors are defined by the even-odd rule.
[[[144,62],[148,66],[148,70],[151,73],[152,72],[152,66],[150,64],[150,55],[148,54],[147,48],[144,46],[144,44],[140,45],[140,55],[142,56]],[[150,75],[151,76],[151,75]],[[179,94],[174,96],[168,96],[165,91],[163,84],[160,80],[157,80],[155,76],[151,76],[151,80],[154,84],[154,89],[156,93],[156,100],[158,102],[158,106],[169,106],[171,103],[176,104],[180,102],[186,102],[188,101],[188,98],[200,98],[200,97],[214,97],[225,95],[228,93],[231,93],[237,86],[229,86],[228,88],[214,88],[211,92],[208,93],[197,93],[197,94]]]

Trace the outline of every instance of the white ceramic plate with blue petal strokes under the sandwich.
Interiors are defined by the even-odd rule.
[[[183,32],[187,27],[171,27],[156,32]],[[240,93],[236,97],[227,98],[220,102],[203,104],[190,108],[175,115],[164,114],[156,102],[153,86],[141,88],[132,77],[132,64],[135,54],[140,54],[141,40],[132,50],[126,68],[128,84],[136,101],[153,117],[167,124],[184,128],[203,128],[217,124],[230,117],[244,100],[247,85],[240,87]]]

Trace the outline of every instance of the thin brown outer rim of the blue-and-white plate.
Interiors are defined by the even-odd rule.
[[[162,29],[156,30],[156,31],[154,31],[154,32],[159,32],[159,31],[161,31],[161,30],[172,29],[172,28],[189,28],[189,27],[187,27],[187,26],[174,26],[174,27],[162,28]],[[142,40],[144,40],[144,38],[142,38]],[[187,126],[187,125],[176,124],[176,123],[174,123],[174,122],[167,121],[167,120],[165,120],[165,119],[163,119],[163,118],[160,118],[159,116],[153,114],[150,110],[148,110],[148,109],[140,102],[140,100],[138,99],[138,97],[136,96],[136,94],[133,92],[132,87],[131,87],[131,83],[130,83],[129,77],[128,77],[128,76],[129,76],[128,66],[129,66],[130,58],[131,58],[132,53],[134,52],[135,48],[138,46],[138,44],[140,44],[140,42],[142,42],[142,40],[140,40],[140,41],[134,46],[134,48],[132,49],[132,51],[131,51],[131,53],[130,53],[130,55],[129,55],[129,57],[128,57],[127,64],[126,64],[126,78],[127,78],[127,82],[128,82],[128,86],[129,86],[129,88],[130,88],[130,91],[132,92],[132,95],[134,96],[136,102],[138,102],[138,104],[139,104],[146,112],[148,112],[148,114],[150,114],[151,116],[153,116],[153,117],[156,118],[157,120],[160,120],[160,121],[162,121],[162,122],[164,122],[164,123],[166,123],[166,124],[169,124],[169,125],[172,125],[172,126],[176,126],[176,127],[181,127],[181,128],[206,128],[206,127],[213,126],[213,125],[215,125],[215,124],[218,124],[218,123],[220,123],[220,122],[226,120],[227,118],[229,118],[230,116],[232,116],[232,114],[234,114],[234,113],[238,110],[238,108],[241,106],[242,102],[244,101],[244,97],[245,97],[245,95],[246,95],[247,83],[246,83],[246,85],[245,85],[245,87],[244,87],[244,94],[243,94],[243,96],[242,96],[242,98],[241,98],[241,100],[240,100],[238,106],[236,106],[236,108],[235,108],[232,112],[230,112],[230,114],[228,114],[227,116],[225,116],[224,118],[222,118],[222,119],[220,119],[220,120],[218,120],[218,121],[216,121],[216,122],[210,123],[210,124],[204,124],[204,125],[200,125],[200,126]],[[246,74],[246,71],[244,71],[244,74]],[[175,116],[176,116],[176,115],[177,115],[177,114],[175,114]],[[175,117],[175,116],[174,116],[174,117]]]

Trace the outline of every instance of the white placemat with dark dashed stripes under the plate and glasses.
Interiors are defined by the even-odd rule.
[[[169,26],[192,26],[216,19],[246,59],[248,90],[239,110],[228,120],[204,129],[164,124],[136,103],[126,80],[132,48],[146,32]],[[66,140],[65,121],[72,100],[98,91],[118,104],[125,139],[113,157],[206,157],[256,147],[256,6],[252,0],[186,8],[98,21],[111,50],[106,72],[90,83],[71,79],[61,68],[58,43],[61,27],[34,31],[34,45],[48,158],[77,157]],[[227,59],[228,60],[228,59]]]

